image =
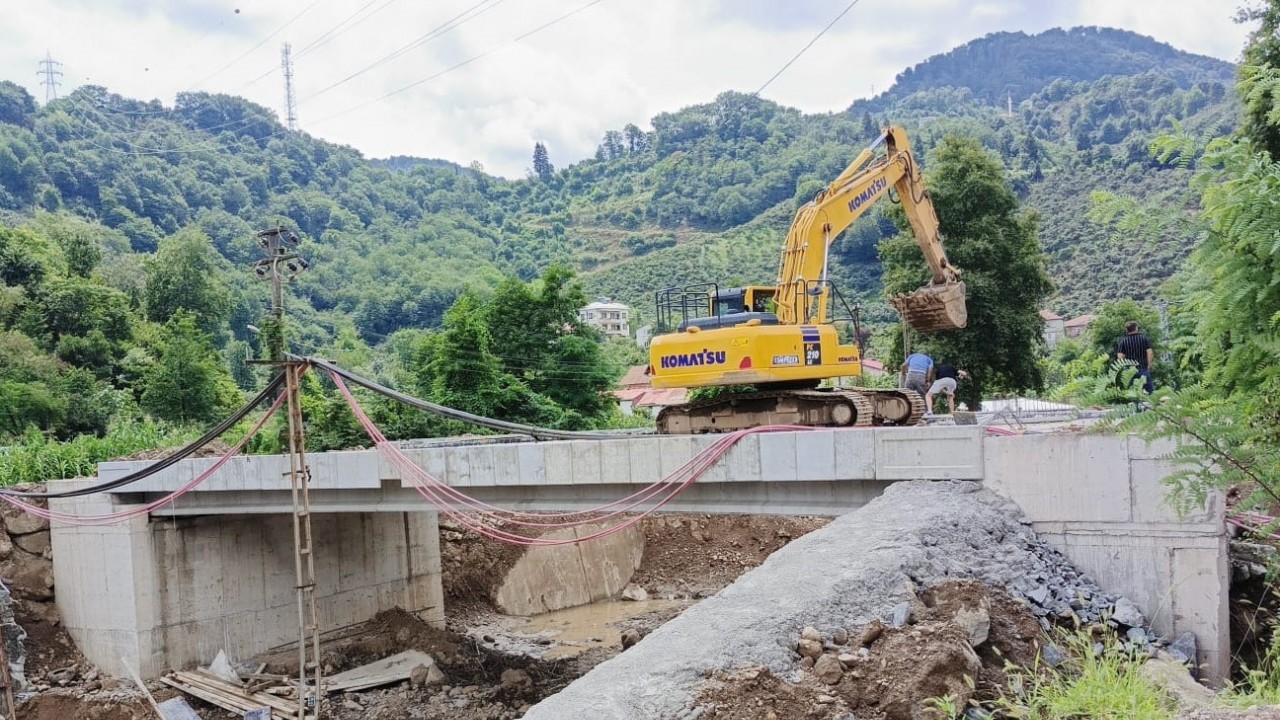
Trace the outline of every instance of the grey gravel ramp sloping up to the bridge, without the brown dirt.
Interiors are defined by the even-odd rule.
[[[956,579],[1006,588],[1044,624],[1071,614],[1096,621],[1116,606],[1043,543],[1015,505],[979,484],[897,483],[792,541],[525,719],[692,720],[705,711],[696,696],[713,674],[760,666],[796,682],[792,648],[805,626],[831,637],[872,620],[891,624],[916,591]]]

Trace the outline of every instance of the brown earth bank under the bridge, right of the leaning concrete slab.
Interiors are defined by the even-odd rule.
[[[644,561],[632,582],[658,597],[713,594],[829,518],[655,515],[644,520]]]

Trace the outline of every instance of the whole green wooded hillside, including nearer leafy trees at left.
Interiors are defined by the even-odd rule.
[[[298,229],[311,260],[289,305],[296,348],[346,354],[384,374],[434,357],[429,338],[445,333],[421,331],[447,325],[466,288],[477,292],[470,306],[490,309],[490,327],[454,327],[451,337],[500,336],[486,296],[506,278],[507,296],[534,297],[509,283],[556,264],[576,270],[589,293],[636,306],[634,327],[664,286],[772,282],[796,206],[886,123],[906,127],[925,172],[929,151],[952,133],[998,155],[1024,206],[1041,215],[1055,310],[1142,297],[1189,238],[1117,241],[1087,219],[1089,196],[1119,191],[1181,210],[1194,168],[1161,163],[1148,146],[1175,126],[1234,127],[1231,83],[1231,65],[1129,32],[998,33],[904,70],[888,92],[847,111],[806,115],[726,92],[662,113],[652,129],[605,132],[594,158],[562,168],[531,147],[530,177],[508,181],[477,164],[370,160],[289,132],[238,97],[188,92],[168,106],[81,87],[38,105],[0,82],[0,398],[46,409],[42,419],[9,418],[0,434],[28,423],[101,432],[105,418],[70,427],[86,416],[70,404],[99,393],[115,398],[110,407],[131,398],[146,407],[166,352],[178,363],[216,348],[223,359],[209,369],[212,405],[170,407],[173,416],[207,416],[237,386],[252,387],[242,360],[260,350],[248,325],[266,287],[246,265],[259,254],[253,233],[278,223]],[[850,228],[832,256],[845,295],[879,320],[890,319],[877,256],[895,232],[887,209]],[[544,299],[554,307],[547,318],[577,297],[563,288]],[[493,351],[502,364],[504,350]],[[556,383],[529,368],[495,373],[511,392],[493,402],[532,392],[526,405],[544,407],[554,395]],[[415,382],[451,392],[434,377]],[[596,411],[566,407],[539,416]]]

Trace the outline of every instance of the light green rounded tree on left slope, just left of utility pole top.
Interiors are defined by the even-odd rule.
[[[161,241],[155,256],[145,263],[147,284],[142,302],[147,319],[168,323],[186,310],[201,331],[219,332],[232,311],[224,263],[200,228],[184,228]]]

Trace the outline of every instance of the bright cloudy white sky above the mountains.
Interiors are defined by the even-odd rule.
[[[925,58],[996,31],[1107,26],[1234,60],[1239,1],[858,0],[762,94],[846,108]],[[417,155],[520,177],[591,155],[607,129],[753,92],[850,0],[27,0],[0,24],[0,79],[44,100],[92,83],[173,102],[228,92],[280,111],[294,58],[303,131],[369,156]],[[443,28],[443,29],[442,29]]]

